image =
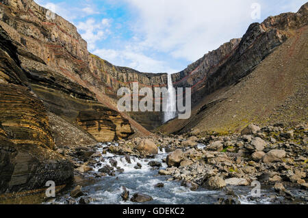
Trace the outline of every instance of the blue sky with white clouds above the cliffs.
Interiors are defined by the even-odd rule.
[[[141,72],[179,72],[251,23],[306,0],[34,0],[73,23],[88,51]]]

